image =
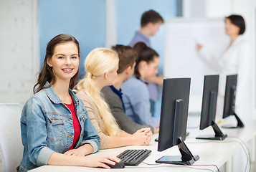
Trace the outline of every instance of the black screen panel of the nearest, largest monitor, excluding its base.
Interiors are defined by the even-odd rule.
[[[158,151],[178,145],[179,138],[186,139],[190,82],[190,78],[163,80]],[[179,113],[179,115],[175,115],[175,113]]]

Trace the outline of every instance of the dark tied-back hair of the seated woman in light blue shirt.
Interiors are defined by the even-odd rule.
[[[141,74],[138,72],[138,65],[140,64],[140,62],[153,62],[154,58],[159,57],[159,55],[155,50],[151,49],[151,47],[147,47],[144,42],[136,43],[133,46],[133,49],[135,49],[138,54],[138,58],[136,59],[136,66],[134,68],[134,74],[137,79],[140,79]]]

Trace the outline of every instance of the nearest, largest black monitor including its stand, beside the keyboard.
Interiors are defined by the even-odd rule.
[[[189,110],[190,78],[163,80],[158,151],[178,145],[181,156],[163,156],[156,163],[191,165],[199,159],[184,143]]]

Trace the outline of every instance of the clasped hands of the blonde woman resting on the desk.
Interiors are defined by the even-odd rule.
[[[150,128],[141,128],[133,134],[134,145],[148,145],[151,142],[152,132]]]

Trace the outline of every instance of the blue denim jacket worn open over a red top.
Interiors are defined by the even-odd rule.
[[[80,138],[75,148],[87,143],[92,145],[95,153],[100,148],[100,137],[88,117],[82,100],[72,90],[69,92],[81,126]],[[74,136],[72,113],[52,87],[44,88],[24,105],[21,130],[24,152],[19,171],[28,171],[46,165],[52,153],[65,153],[70,148]]]

